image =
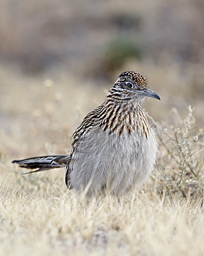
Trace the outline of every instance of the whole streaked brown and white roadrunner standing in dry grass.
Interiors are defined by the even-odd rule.
[[[135,71],[119,75],[103,104],[74,131],[70,154],[14,160],[32,172],[65,167],[65,184],[77,194],[123,196],[145,183],[156,163],[156,136],[142,102],[161,100]]]

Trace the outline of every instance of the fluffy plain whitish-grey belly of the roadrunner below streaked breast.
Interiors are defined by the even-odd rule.
[[[148,138],[134,132],[108,134],[94,127],[81,140],[79,152],[70,162],[70,183],[88,196],[103,188],[117,196],[139,188],[152,172],[156,159],[156,139],[150,129]]]

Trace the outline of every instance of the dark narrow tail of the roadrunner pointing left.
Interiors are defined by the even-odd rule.
[[[30,174],[32,172],[41,172],[54,168],[65,167],[70,161],[68,155],[56,155],[56,156],[36,156],[32,158],[26,158],[23,160],[14,160],[12,163],[17,163],[19,167],[27,169],[37,169],[31,172],[23,172],[23,174]]]

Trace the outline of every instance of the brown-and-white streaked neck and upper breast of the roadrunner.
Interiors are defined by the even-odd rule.
[[[150,125],[141,106],[132,100],[113,100],[107,98],[103,103],[100,124],[104,131],[116,134],[139,133],[146,138],[150,134]]]

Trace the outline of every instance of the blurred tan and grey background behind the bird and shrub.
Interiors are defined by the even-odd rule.
[[[122,71],[143,74],[172,123],[203,125],[203,0],[0,0],[0,153],[61,154]],[[173,110],[175,111],[175,110]]]

